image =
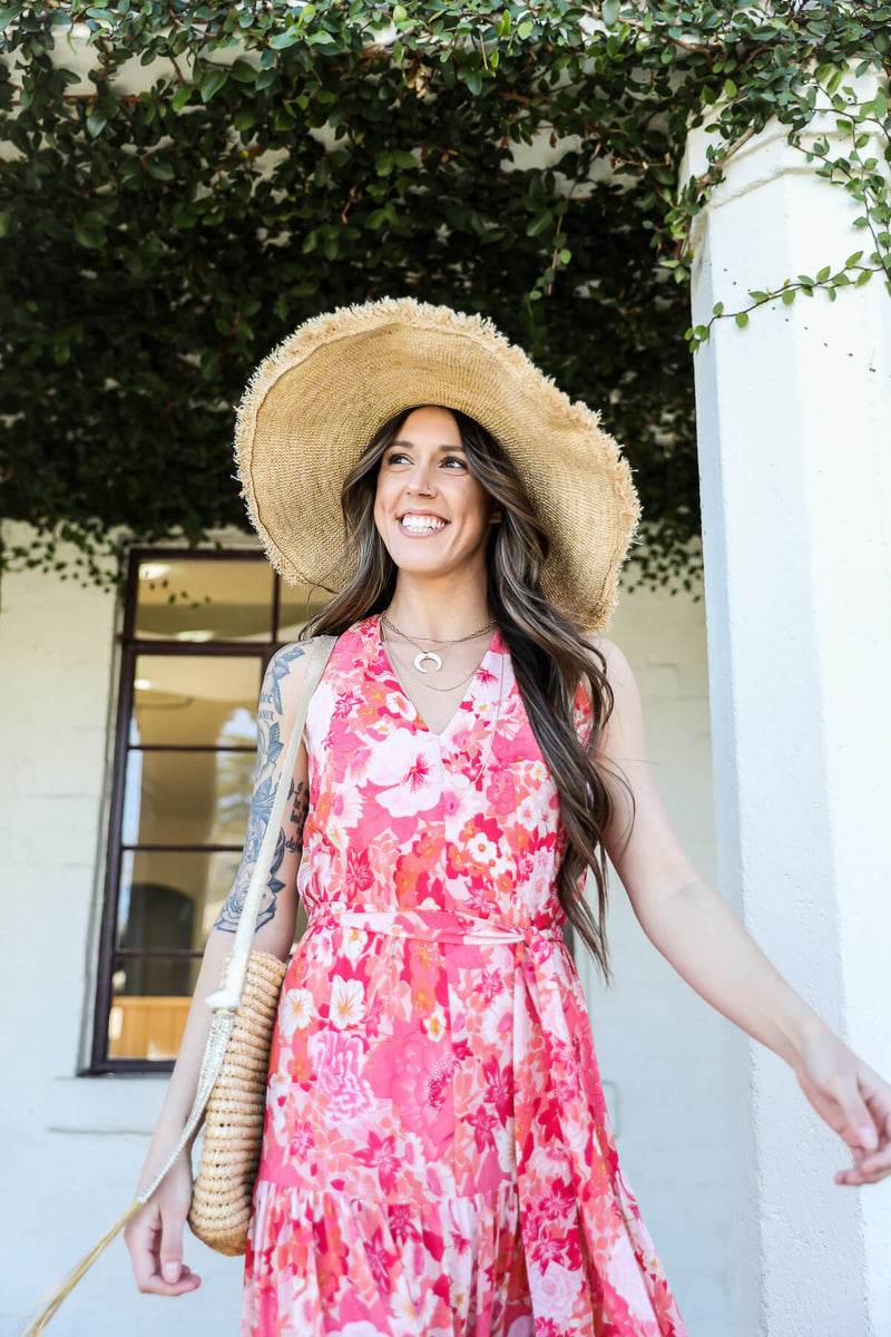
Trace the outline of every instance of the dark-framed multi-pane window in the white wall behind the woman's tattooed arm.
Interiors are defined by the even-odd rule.
[[[130,554],[90,1071],[170,1071],[244,844],[263,673],[323,591],[262,552]]]

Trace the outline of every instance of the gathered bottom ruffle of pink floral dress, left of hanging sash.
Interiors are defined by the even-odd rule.
[[[258,1187],[244,1330],[532,1337],[516,1183],[426,1209]]]

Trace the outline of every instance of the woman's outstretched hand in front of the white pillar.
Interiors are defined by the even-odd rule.
[[[891,1086],[831,1031],[810,1042],[795,1075],[854,1154],[854,1166],[839,1170],[835,1182],[878,1183],[891,1174]]]

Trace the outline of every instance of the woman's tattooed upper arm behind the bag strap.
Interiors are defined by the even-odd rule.
[[[214,928],[234,933],[244,905],[256,858],[259,854],[269,818],[275,802],[285,762],[285,751],[299,702],[306,674],[306,655],[311,640],[298,640],[282,646],[270,659],[256,707],[256,765],[254,767],[254,790],[247,820],[244,850],[235,876],[232,890],[223,905]],[[258,931],[271,924],[277,915],[297,913],[297,869],[303,848],[303,824],[309,810],[309,774],[303,747],[298,751],[297,766],[291,777],[282,826],[275,841],[275,853],[270,866],[269,880],[263,889],[260,912],[256,920]],[[293,928],[291,928],[293,932]]]

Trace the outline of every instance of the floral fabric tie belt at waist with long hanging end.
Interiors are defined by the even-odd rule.
[[[631,1221],[624,1185],[609,1135],[588,1012],[578,976],[558,924],[508,924],[478,919],[458,910],[427,908],[381,909],[329,901],[313,906],[307,932],[359,929],[390,937],[426,939],[446,944],[514,944],[513,989],[513,1112],[517,1189],[526,1270],[537,1318],[550,1312],[553,1280],[549,1266],[561,1271],[580,1235],[589,1265],[602,1263],[598,1294],[590,1293],[586,1313],[573,1337],[596,1337],[609,1330],[617,1337],[632,1330],[653,1337],[661,1325],[625,1326],[628,1289],[616,1296],[609,1275],[622,1277],[624,1288],[637,1290],[632,1312],[653,1314],[652,1294]],[[536,1062],[536,1055],[538,1060]],[[544,1062],[541,1062],[544,1059]],[[558,1135],[556,1138],[556,1135]],[[536,1152],[550,1151],[553,1167],[562,1143],[568,1183],[557,1183],[553,1169],[542,1179]],[[632,1209],[633,1210],[633,1209]],[[584,1275],[586,1269],[578,1273]],[[636,1277],[636,1281],[635,1281]],[[639,1289],[637,1289],[639,1288]],[[596,1306],[596,1308],[594,1308]],[[613,1309],[616,1306],[616,1309]],[[640,1308],[637,1308],[640,1306]],[[604,1328],[614,1322],[616,1326]]]

